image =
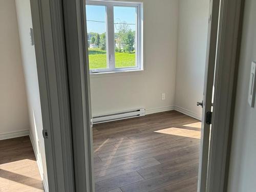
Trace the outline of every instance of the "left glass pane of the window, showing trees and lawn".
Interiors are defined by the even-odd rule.
[[[106,7],[86,6],[89,65],[91,69],[106,69]]]

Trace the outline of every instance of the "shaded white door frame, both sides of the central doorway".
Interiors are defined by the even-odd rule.
[[[221,0],[214,131],[207,185],[200,192],[226,189],[243,1]],[[50,192],[94,192],[84,7],[85,0],[31,0]]]

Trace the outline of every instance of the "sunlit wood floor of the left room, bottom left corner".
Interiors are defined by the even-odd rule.
[[[28,136],[0,141],[0,191],[44,191]]]

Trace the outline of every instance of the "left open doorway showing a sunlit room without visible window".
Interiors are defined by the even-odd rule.
[[[0,4],[0,191],[48,191],[30,1]]]

